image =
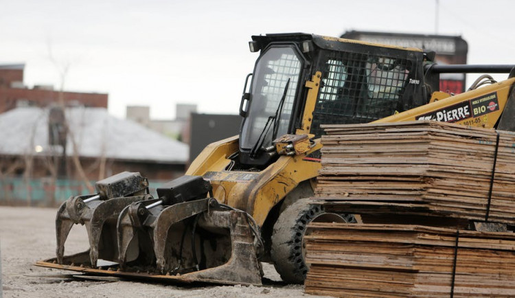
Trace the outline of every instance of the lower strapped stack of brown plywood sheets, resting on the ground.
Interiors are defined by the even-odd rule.
[[[515,296],[514,233],[315,222],[305,240],[309,294]]]

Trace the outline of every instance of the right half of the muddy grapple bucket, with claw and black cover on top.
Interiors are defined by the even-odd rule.
[[[133,203],[119,215],[122,271],[153,271],[221,284],[261,284],[247,214],[222,209],[214,198],[206,198],[209,182],[186,177],[158,189],[158,200]],[[190,187],[196,191],[190,192]],[[170,201],[173,205],[164,205]]]

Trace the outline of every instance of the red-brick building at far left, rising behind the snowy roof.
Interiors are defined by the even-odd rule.
[[[58,102],[60,97],[66,106],[107,108],[105,93],[82,93],[55,91],[52,86],[34,86],[29,89],[23,84],[25,65],[0,65],[0,113],[18,106],[48,106]]]

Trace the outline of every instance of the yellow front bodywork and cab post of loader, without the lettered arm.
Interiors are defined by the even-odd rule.
[[[308,133],[313,119],[321,73],[306,82],[309,88],[302,128],[297,134]],[[299,183],[313,179],[321,169],[320,160],[308,155],[321,148],[320,139],[314,140],[306,152],[293,156],[282,155],[259,172],[226,171],[228,158],[238,151],[238,136],[209,144],[192,162],[187,175],[203,176],[211,182],[214,197],[220,202],[247,211],[262,226],[268,212]],[[304,150],[303,150],[304,151]]]

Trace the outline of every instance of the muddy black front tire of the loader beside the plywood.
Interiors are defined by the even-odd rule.
[[[271,259],[284,282],[302,284],[308,273],[304,252],[306,226],[317,216],[325,214],[323,206],[311,205],[309,198],[301,198],[286,207],[273,227]],[[346,222],[352,222],[343,218]]]

